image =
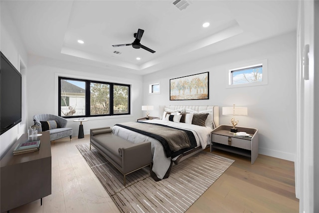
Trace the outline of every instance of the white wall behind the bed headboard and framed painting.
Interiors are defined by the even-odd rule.
[[[212,47],[213,48],[213,47]],[[226,67],[268,60],[268,84],[226,88]],[[209,100],[169,101],[169,79],[209,71]],[[151,83],[160,83],[160,94],[149,95]],[[144,103],[159,105],[247,106],[248,116],[237,117],[238,126],[259,129],[259,153],[290,161],[296,154],[296,32],[232,49],[201,60],[144,76]],[[222,116],[220,124],[231,117]]]

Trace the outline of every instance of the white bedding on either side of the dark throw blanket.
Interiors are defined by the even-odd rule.
[[[186,123],[175,123],[172,121],[165,121],[165,120],[159,120],[159,119],[154,119],[154,120],[149,120],[144,122],[162,124],[162,125],[167,125],[170,127],[176,127],[176,128],[192,131],[194,133],[197,146],[201,146],[202,149],[205,149],[206,146],[210,143],[210,133],[212,131],[212,128],[210,127],[202,127],[202,126],[186,124]],[[157,175],[159,179],[163,179],[166,171],[168,170],[170,166],[171,158],[166,158],[164,149],[158,140],[151,138],[149,136],[119,127],[119,126],[113,127],[113,134],[118,135],[121,138],[124,138],[128,141],[131,141],[132,143],[150,141],[152,145],[152,156],[153,156],[152,171]]]

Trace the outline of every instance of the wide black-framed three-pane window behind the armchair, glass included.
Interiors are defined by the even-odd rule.
[[[130,114],[130,85],[59,77],[59,116]]]

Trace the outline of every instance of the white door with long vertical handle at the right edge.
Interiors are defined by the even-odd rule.
[[[299,2],[297,26],[298,135],[297,161],[295,164],[296,196],[300,199],[300,213],[318,213],[319,1],[301,0]],[[305,45],[309,45],[307,54],[304,54]],[[303,66],[306,56],[309,58],[308,69]],[[309,75],[305,73],[309,73]]]

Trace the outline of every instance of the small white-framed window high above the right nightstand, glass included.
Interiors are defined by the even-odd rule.
[[[227,87],[244,87],[267,84],[267,60],[227,69]]]

